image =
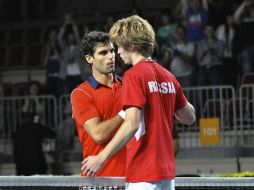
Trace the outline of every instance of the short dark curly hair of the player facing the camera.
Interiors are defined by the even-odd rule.
[[[105,32],[92,31],[85,33],[80,44],[80,55],[85,60],[86,55],[93,55],[99,44],[108,44],[109,36]]]

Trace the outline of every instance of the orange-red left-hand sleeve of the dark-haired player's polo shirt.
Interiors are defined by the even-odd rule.
[[[91,96],[82,89],[75,89],[71,94],[72,117],[83,125],[87,120],[100,117]]]

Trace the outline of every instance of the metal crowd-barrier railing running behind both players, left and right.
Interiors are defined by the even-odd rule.
[[[232,86],[203,86],[185,88],[187,99],[196,109],[196,122],[184,126],[175,121],[179,132],[181,148],[207,149],[254,147],[254,85],[243,85],[239,97]],[[73,148],[73,138],[77,137],[71,117],[70,97],[62,95],[59,102],[54,96],[3,97],[0,98],[0,140],[11,142],[11,135],[24,121],[22,109],[29,99],[37,99],[42,105],[43,124],[56,129],[58,149],[69,151]],[[215,145],[205,145],[200,141],[200,119],[218,118],[220,141]],[[1,143],[0,152],[8,152],[8,143]],[[211,151],[212,152],[212,151]]]

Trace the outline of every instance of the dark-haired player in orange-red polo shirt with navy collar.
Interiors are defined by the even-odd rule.
[[[82,59],[91,66],[92,75],[72,91],[71,103],[85,158],[104,149],[124,121],[124,115],[121,111],[122,82],[113,74],[115,52],[108,34],[95,31],[85,34],[80,52]],[[124,176],[125,164],[126,148],[123,147],[96,176]]]

